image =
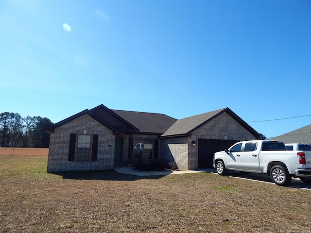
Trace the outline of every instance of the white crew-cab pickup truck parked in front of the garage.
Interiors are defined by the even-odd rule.
[[[238,142],[225,151],[216,152],[213,162],[219,175],[225,175],[228,170],[266,173],[282,186],[290,183],[292,177],[306,183],[311,180],[311,155],[287,150],[282,141]]]

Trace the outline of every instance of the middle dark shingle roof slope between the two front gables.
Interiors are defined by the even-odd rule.
[[[164,114],[111,110],[139,129],[139,133],[164,133],[177,119]]]

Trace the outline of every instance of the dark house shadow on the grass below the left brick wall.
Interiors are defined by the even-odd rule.
[[[121,174],[115,170],[97,170],[97,171],[65,171],[51,172],[51,174],[62,176],[69,180],[103,180],[103,181],[136,181],[136,180],[157,180],[163,176],[134,176]]]

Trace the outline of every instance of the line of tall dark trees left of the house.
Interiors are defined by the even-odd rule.
[[[1,147],[49,148],[50,134],[45,132],[45,128],[52,124],[46,117],[21,117],[18,113],[1,113]]]

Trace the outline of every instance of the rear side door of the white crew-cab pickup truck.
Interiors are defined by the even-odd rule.
[[[250,171],[259,170],[259,153],[257,149],[257,142],[245,143],[244,150],[241,152],[242,169]]]

